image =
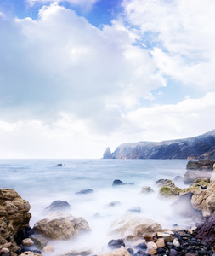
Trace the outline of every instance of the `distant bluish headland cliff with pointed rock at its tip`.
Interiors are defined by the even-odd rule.
[[[116,159],[215,159],[215,130],[197,137],[163,141],[160,143],[123,143],[103,158]]]

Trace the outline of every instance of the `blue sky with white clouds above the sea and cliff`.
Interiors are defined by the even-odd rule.
[[[215,1],[1,0],[0,158],[98,159],[215,128]]]

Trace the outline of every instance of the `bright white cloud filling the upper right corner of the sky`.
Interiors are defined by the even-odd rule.
[[[161,74],[197,90],[214,90],[215,2],[124,0],[127,20],[139,26]]]

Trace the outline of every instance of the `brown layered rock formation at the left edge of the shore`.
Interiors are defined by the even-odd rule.
[[[12,252],[19,248],[14,236],[18,230],[29,226],[29,210],[29,202],[22,199],[14,189],[0,189],[0,244],[8,244]]]

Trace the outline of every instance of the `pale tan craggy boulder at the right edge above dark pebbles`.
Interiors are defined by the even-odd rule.
[[[191,204],[195,209],[201,210],[204,217],[211,216],[215,213],[215,174],[212,174],[210,183],[206,189],[195,191],[191,198]]]

